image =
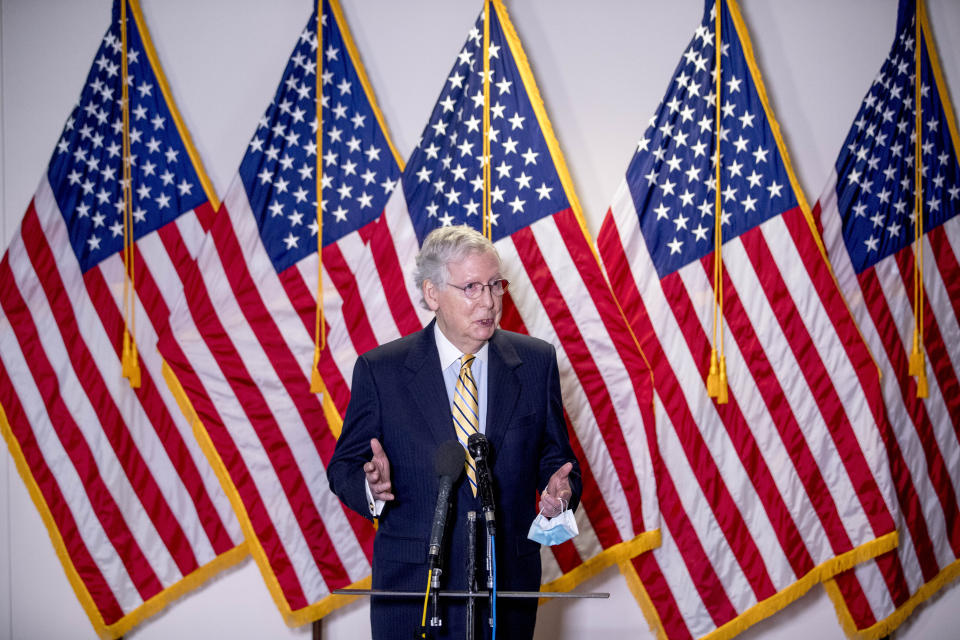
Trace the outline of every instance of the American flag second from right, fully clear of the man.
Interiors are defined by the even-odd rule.
[[[633,561],[660,631],[730,637],[896,544],[875,478],[876,368],[837,291],[737,4],[714,2],[601,227],[611,284],[653,365],[663,544]],[[708,397],[722,198],[729,402]],[[885,467],[882,467],[885,469]]]

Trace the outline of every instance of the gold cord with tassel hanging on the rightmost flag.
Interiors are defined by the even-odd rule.
[[[923,0],[917,0],[917,14],[914,16],[916,43],[914,48],[914,260],[913,260],[913,351],[910,353],[909,375],[917,377],[917,397],[926,398],[927,372],[923,351],[923,155],[920,138],[922,136],[923,117],[920,108],[923,83],[923,68],[921,67],[921,38],[923,31],[920,28],[923,15]]]

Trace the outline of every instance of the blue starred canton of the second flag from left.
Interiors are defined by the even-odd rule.
[[[316,26],[314,11],[240,164],[260,238],[278,273],[317,251],[320,164],[324,246],[378,218],[400,178],[400,167],[326,3],[320,63],[322,157],[317,157]]]

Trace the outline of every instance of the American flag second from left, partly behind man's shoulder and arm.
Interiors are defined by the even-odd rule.
[[[322,617],[342,602],[333,589],[370,575],[373,526],[340,504],[325,465],[357,354],[422,326],[412,306],[412,327],[396,322],[382,294],[396,285],[379,281],[369,237],[399,161],[340,7],[323,7],[321,32],[314,10],[200,250],[201,277],[186,287],[160,346],[199,401],[211,463],[292,625]],[[310,390],[318,232],[320,395]]]

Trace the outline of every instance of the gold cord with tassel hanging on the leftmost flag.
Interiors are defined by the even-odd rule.
[[[133,251],[132,168],[130,163],[130,92],[127,89],[127,2],[120,3],[120,84],[123,95],[123,350],[120,372],[134,389],[140,388],[140,363],[136,339],[136,280]]]

